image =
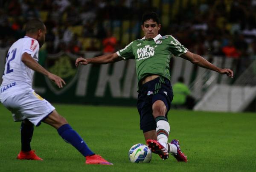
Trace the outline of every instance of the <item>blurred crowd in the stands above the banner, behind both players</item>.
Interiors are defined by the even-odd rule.
[[[256,0],[0,0],[0,47],[23,37],[26,21],[39,18],[49,54],[111,53],[143,37],[145,11],[159,14],[160,34],[194,53],[256,58]]]

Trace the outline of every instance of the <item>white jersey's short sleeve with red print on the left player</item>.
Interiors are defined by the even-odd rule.
[[[27,53],[27,54],[30,54],[32,58],[34,58],[35,54],[38,53],[38,51],[39,51],[38,41],[35,39],[28,39],[23,44],[23,49],[21,50],[21,54]]]

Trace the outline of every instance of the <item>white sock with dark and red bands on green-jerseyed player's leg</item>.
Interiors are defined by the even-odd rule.
[[[166,117],[157,116],[156,123],[157,123],[157,141],[167,143],[169,132],[170,132],[170,125]]]

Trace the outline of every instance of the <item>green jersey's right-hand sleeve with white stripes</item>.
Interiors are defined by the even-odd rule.
[[[184,47],[184,45],[181,45],[180,42],[177,39],[175,39],[173,36],[170,36],[170,37],[171,37],[171,41],[170,41],[169,50],[172,52],[172,54],[174,54],[175,56],[180,56],[189,51],[186,47]]]

